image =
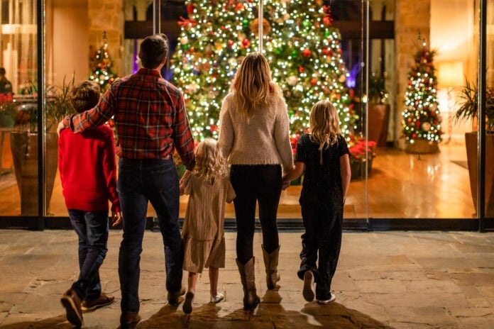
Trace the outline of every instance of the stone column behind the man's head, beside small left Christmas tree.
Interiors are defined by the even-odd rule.
[[[123,75],[122,52],[124,50],[124,1],[122,0],[88,0],[89,18],[89,56],[103,44],[106,31],[108,49],[113,61],[112,71],[117,77]]]

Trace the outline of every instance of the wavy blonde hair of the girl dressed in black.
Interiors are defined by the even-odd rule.
[[[336,107],[330,101],[318,101],[310,110],[310,140],[319,144],[319,150],[338,142],[341,135]]]

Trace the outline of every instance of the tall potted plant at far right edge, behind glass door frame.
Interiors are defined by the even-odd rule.
[[[468,172],[470,174],[470,188],[473,204],[477,208],[477,182],[478,182],[478,88],[476,84],[466,81],[457,98],[457,107],[454,113],[455,121],[472,121],[472,132],[465,133],[466,157]],[[494,87],[487,87],[485,91],[485,216],[494,217]]]

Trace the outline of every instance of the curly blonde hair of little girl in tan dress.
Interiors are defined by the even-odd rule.
[[[212,182],[214,177],[226,177],[226,160],[218,142],[212,138],[204,139],[195,149],[196,163],[192,174]]]

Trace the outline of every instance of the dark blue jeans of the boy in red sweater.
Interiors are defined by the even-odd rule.
[[[99,267],[106,256],[108,210],[69,209],[70,223],[79,237],[79,279],[72,284],[80,299],[98,299],[101,295]]]

